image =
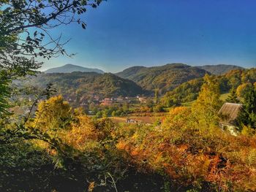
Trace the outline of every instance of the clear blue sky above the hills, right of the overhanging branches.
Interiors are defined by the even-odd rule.
[[[44,61],[42,70],[75,64],[120,72],[129,66],[256,66],[255,0],[108,0],[78,24],[51,31],[71,38],[73,58]]]

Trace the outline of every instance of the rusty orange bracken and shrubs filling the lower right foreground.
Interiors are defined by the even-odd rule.
[[[221,191],[255,191],[256,137],[233,137],[218,127],[193,132],[190,113],[176,107],[160,128],[135,129],[116,146],[139,170],[164,172],[181,185],[204,181]]]

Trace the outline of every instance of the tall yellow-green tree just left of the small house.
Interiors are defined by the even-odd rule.
[[[204,83],[201,87],[197,100],[192,105],[192,112],[195,118],[205,126],[216,125],[218,122],[217,112],[221,102],[219,101],[219,83],[208,74],[203,78]]]

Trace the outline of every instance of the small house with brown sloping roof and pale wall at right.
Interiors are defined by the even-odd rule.
[[[223,130],[230,131],[230,134],[233,134],[235,136],[238,133],[236,120],[242,106],[242,104],[225,103],[219,110],[219,115],[221,117],[221,120],[219,121],[219,126]]]

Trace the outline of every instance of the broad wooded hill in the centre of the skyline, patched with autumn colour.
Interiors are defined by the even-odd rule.
[[[206,70],[186,64],[166,64],[164,66],[133,66],[118,72],[118,77],[132,80],[148,91],[159,89],[160,93],[173,90],[189,80],[203,77]]]

